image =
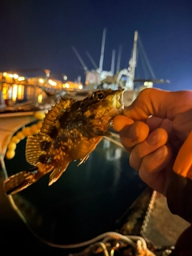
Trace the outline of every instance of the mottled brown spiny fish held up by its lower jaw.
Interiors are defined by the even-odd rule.
[[[86,162],[103,136],[110,136],[114,117],[122,114],[123,93],[124,89],[96,90],[80,101],[58,98],[38,134],[27,137],[26,161],[33,168],[8,177],[5,193],[16,194],[51,172],[50,186],[70,162],[79,160],[78,166]]]

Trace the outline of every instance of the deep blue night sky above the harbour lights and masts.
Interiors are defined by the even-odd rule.
[[[86,51],[98,64],[106,27],[104,70],[120,45],[121,68],[128,66],[138,30],[156,78],[170,80],[156,86],[192,89],[191,0],[1,0],[0,24],[0,71],[43,68],[83,80],[72,46],[93,69]]]

